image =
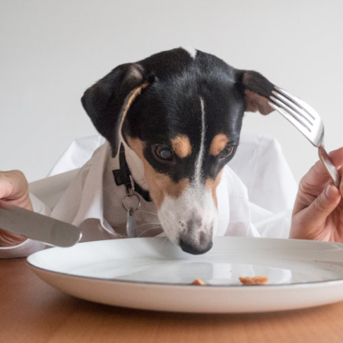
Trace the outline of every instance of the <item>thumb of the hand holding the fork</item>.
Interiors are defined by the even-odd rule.
[[[331,184],[327,185],[316,200],[309,205],[307,224],[314,226],[323,224],[339,202],[340,191],[338,188]]]

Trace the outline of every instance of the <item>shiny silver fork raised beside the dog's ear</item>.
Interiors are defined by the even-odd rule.
[[[269,105],[290,121],[315,147],[318,147],[320,161],[327,169],[336,187],[340,185],[340,174],[324,149],[324,124],[308,104],[294,95],[276,87],[270,95]]]

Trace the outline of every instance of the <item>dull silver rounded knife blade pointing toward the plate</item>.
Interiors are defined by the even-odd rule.
[[[8,204],[0,200],[0,228],[41,241],[49,246],[67,248],[82,237],[80,228],[47,215]]]

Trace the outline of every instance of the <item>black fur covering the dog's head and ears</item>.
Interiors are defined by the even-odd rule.
[[[191,178],[201,140],[204,102],[206,137],[203,177],[215,179],[230,158],[220,160],[209,154],[216,134],[225,134],[231,145],[239,143],[241,124],[246,110],[245,91],[264,97],[274,85],[255,71],[240,71],[202,51],[193,59],[185,49],[173,49],[145,58],[137,63],[121,64],[102,80],[88,88],[82,104],[95,127],[117,154],[119,126],[123,106],[129,95],[148,84],[130,106],[123,121],[122,134],[146,143],[144,156],[156,171],[167,174],[174,182]],[[270,108],[270,110],[272,110]],[[179,134],[189,137],[190,156],[173,161],[159,161],[152,145],[165,144]]]

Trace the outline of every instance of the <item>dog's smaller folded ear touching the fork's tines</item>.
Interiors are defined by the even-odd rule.
[[[244,91],[246,111],[269,115],[274,109],[269,106],[268,98],[272,95],[274,84],[257,71],[237,71],[237,84]]]

